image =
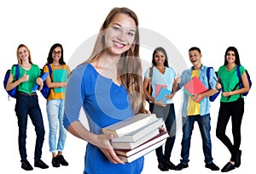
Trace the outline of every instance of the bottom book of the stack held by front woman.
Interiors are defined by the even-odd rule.
[[[128,156],[128,157],[127,156],[121,156],[121,155],[118,155],[118,156],[124,162],[131,163],[132,161],[137,160],[138,158],[142,157],[145,154],[148,154],[149,152],[153,151],[154,149],[157,149],[158,147],[160,147],[164,143],[166,143],[166,139],[162,139],[159,142],[154,143],[153,145],[149,146],[148,148],[137,152],[137,154],[132,154],[131,156]]]

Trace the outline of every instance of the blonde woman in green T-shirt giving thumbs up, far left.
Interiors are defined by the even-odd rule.
[[[9,91],[14,87],[19,86],[16,96],[15,112],[18,119],[19,126],[19,150],[21,158],[21,168],[26,171],[32,171],[33,167],[27,160],[26,154],[26,128],[27,119],[30,117],[35,132],[37,135],[36,146],[34,152],[34,166],[46,169],[47,166],[42,157],[42,148],[44,143],[44,121],[43,115],[38,104],[38,95],[32,91],[32,87],[38,84],[38,90],[41,90],[44,83],[40,76],[40,69],[38,65],[32,64],[30,50],[24,44],[20,44],[17,48],[17,59],[20,70],[19,79],[15,79],[15,66],[10,71],[9,80],[6,85],[6,90]],[[15,80],[15,81],[14,81]]]

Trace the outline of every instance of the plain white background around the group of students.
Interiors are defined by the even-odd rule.
[[[3,3],[4,2],[4,3]],[[148,30],[159,33],[170,40],[190,66],[188,49],[196,46],[201,48],[204,65],[213,66],[218,70],[224,64],[226,48],[235,46],[241,57],[241,65],[250,72],[255,83],[255,69],[252,63],[255,50],[255,16],[253,1],[1,1],[0,3],[0,80],[11,65],[17,63],[16,48],[20,43],[26,44],[32,53],[32,62],[43,66],[49,53],[49,48],[60,42],[64,48],[64,59],[69,61],[73,53],[82,42],[96,35],[103,20],[113,7],[128,7],[134,10],[139,19],[139,25]],[[143,41],[142,41],[143,42]],[[88,50],[89,48],[84,48]],[[150,62],[152,49],[142,49],[141,58]],[[168,50],[168,48],[166,48]],[[168,55],[169,61],[176,61],[172,52]],[[78,57],[79,63],[87,57]],[[176,67],[174,67],[176,69]],[[178,69],[178,67],[177,67]],[[20,168],[20,154],[18,150],[18,126],[15,116],[15,99],[8,100],[3,87],[1,93],[1,121],[0,126],[0,172],[27,173]],[[54,168],[51,166],[48,134],[49,126],[45,111],[45,99],[38,93],[39,103],[44,115],[45,141],[42,159],[49,165],[49,169],[34,168],[29,173],[73,172],[82,173],[84,169],[84,149],[86,142],[67,135],[64,156],[69,166]],[[255,114],[253,112],[254,85],[245,99],[245,113],[241,124],[241,166],[230,173],[252,173],[254,169],[255,145],[253,144]],[[179,126],[181,92],[177,93],[175,107],[177,111],[177,138],[172,151],[172,162],[178,164],[180,160],[182,132]],[[212,157],[214,162],[222,168],[229,160],[230,154],[224,144],[216,138],[215,130],[218,117],[219,98],[212,103]],[[227,133],[230,134],[230,124]],[[28,160],[33,165],[33,151],[35,132],[29,120],[27,129]],[[167,171],[172,173],[213,173],[204,167],[201,135],[197,124],[193,132],[189,168],[183,171]],[[101,167],[101,166],[99,166]],[[166,172],[166,173],[167,173]],[[145,156],[143,174],[161,173],[157,168],[154,152]]]

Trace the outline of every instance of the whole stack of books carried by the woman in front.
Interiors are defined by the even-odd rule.
[[[104,134],[113,134],[112,146],[125,162],[137,160],[166,142],[168,132],[160,132],[163,119],[154,114],[138,114],[124,121],[102,128]]]

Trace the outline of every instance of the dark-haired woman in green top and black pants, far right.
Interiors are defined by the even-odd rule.
[[[237,65],[240,65],[241,81],[244,87],[236,87],[239,82],[237,76]],[[216,128],[217,138],[229,149],[230,161],[221,171],[227,172],[236,169],[241,165],[241,120],[244,113],[244,98],[242,93],[249,91],[249,82],[245,68],[240,64],[239,53],[235,47],[226,49],[224,54],[224,65],[218,69],[217,88],[222,89],[218,111],[218,122]],[[234,87],[236,87],[234,89]],[[232,121],[233,143],[225,134],[228,122]]]

